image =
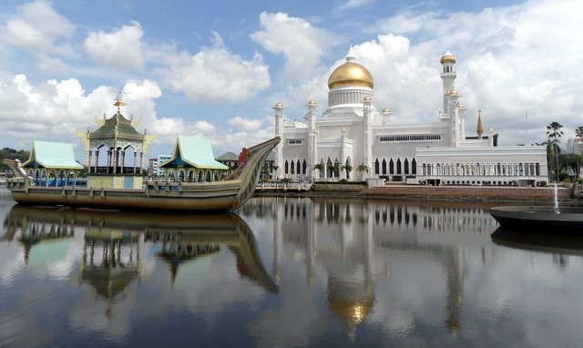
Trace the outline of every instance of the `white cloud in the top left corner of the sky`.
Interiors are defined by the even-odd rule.
[[[60,39],[71,38],[75,34],[75,26],[56,13],[46,1],[20,6],[18,14],[9,17],[0,28],[0,41],[33,54],[73,54],[73,49],[60,43]]]

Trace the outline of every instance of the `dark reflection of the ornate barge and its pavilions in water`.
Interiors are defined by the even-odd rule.
[[[27,264],[66,256],[76,229],[85,234],[78,280],[111,304],[142,276],[145,242],[161,243],[158,256],[169,263],[173,287],[197,281],[210,268],[209,255],[227,246],[240,275],[269,292],[277,284],[265,271],[251,229],[234,214],[174,215],[105,210],[54,210],[15,205],[5,220],[5,240],[24,246]]]

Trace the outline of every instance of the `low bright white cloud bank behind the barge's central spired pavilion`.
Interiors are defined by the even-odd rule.
[[[129,82],[123,89],[127,116],[143,118],[142,127],[156,132],[154,99],[161,91],[155,82]],[[87,94],[76,78],[46,80],[33,84],[25,75],[0,72],[0,122],[3,138],[17,138],[29,148],[33,140],[74,141],[76,130],[95,129],[94,118],[110,117],[118,91],[97,87]]]

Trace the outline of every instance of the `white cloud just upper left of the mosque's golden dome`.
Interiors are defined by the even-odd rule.
[[[260,15],[261,30],[251,39],[274,54],[285,56],[282,77],[290,82],[309,78],[331,46],[332,37],[302,18],[281,12]]]

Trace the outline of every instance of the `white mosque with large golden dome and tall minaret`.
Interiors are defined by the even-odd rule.
[[[304,122],[275,105],[275,177],[297,181],[368,180],[432,185],[538,185],[547,181],[544,146],[498,147],[497,134],[465,134],[465,107],[455,90],[455,56],[441,57],[443,110],[424,124],[394,124],[388,108],[373,106],[371,73],[353,49],[328,79],[328,107],[308,102]]]

